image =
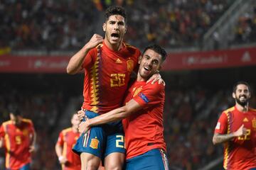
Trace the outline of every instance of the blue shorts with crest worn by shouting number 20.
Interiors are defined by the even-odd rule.
[[[86,118],[95,118],[98,115],[92,111],[85,111]],[[87,152],[100,157],[100,159],[104,159],[113,152],[125,154],[122,122],[107,123],[90,128],[80,135],[73,147],[73,152],[77,154]]]

